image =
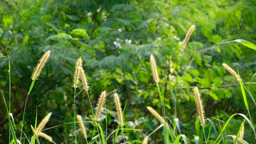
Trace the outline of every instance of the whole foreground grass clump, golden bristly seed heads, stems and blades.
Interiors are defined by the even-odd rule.
[[[189,39],[192,31],[194,30],[194,25],[190,28],[186,39]],[[185,42],[188,41],[185,39]],[[186,46],[186,44],[185,44]],[[184,47],[185,47],[184,46]],[[28,92],[28,95],[30,94],[35,81],[38,79],[38,76],[40,75],[40,72],[42,71],[42,68],[44,67],[45,63],[47,62],[48,58],[50,57],[50,50],[47,51],[42,58],[40,59],[40,63],[36,66],[36,68],[34,69],[34,72],[32,74],[32,85],[30,87],[30,90]],[[160,76],[158,75],[158,71],[157,71],[157,66],[156,66],[156,60],[154,59],[153,55],[150,55],[150,65],[151,65],[151,69],[152,69],[152,74],[153,74],[153,79],[156,83],[157,89],[158,89],[158,98],[160,100],[160,104],[161,104],[161,111],[162,111],[162,116],[160,114],[158,114],[157,111],[160,111],[159,109],[154,110],[151,106],[146,106],[146,108],[148,109],[148,111],[160,122],[158,128],[155,128],[154,130],[152,130],[152,132],[148,135],[145,136],[145,134],[142,132],[141,133],[141,140],[144,137],[144,140],[134,140],[132,142],[139,142],[142,144],[148,144],[149,138],[150,136],[152,136],[152,134],[154,134],[154,132],[158,131],[159,133],[161,133],[164,137],[164,143],[166,144],[170,144],[170,143],[180,143],[181,139],[183,140],[183,142],[185,144],[188,144],[189,140],[187,138],[186,135],[182,134],[182,132],[184,132],[182,129],[182,127],[180,126],[180,121],[179,118],[177,117],[176,113],[175,114],[170,114],[166,113],[165,111],[165,106],[166,106],[166,98],[170,98],[170,97],[165,97],[164,96],[164,90],[162,90],[161,88],[161,83],[160,83]],[[248,144],[245,140],[244,140],[244,122],[248,122],[248,124],[250,125],[255,137],[255,128],[250,116],[250,112],[249,112],[249,106],[246,100],[246,94],[245,94],[245,90],[250,94],[250,90],[248,87],[245,87],[242,79],[240,78],[240,74],[239,72],[236,73],[232,68],[230,68],[227,64],[222,64],[222,66],[224,66],[224,68],[226,68],[226,70],[228,70],[230,72],[230,74],[232,74],[236,80],[238,80],[239,84],[240,84],[240,88],[242,91],[242,96],[244,98],[244,104],[246,105],[246,109],[248,110],[248,114],[233,114],[232,116],[230,116],[230,118],[224,122],[222,120],[220,120],[219,118],[212,118],[212,120],[210,118],[206,118],[205,116],[205,111],[204,111],[204,105],[203,105],[203,100],[202,100],[202,95],[199,92],[199,89],[197,86],[194,87],[194,98],[195,98],[195,103],[196,106],[194,107],[194,109],[196,109],[197,113],[198,113],[198,119],[196,119],[196,134],[194,134],[194,139],[193,142],[195,142],[196,144],[199,143],[212,143],[212,141],[214,143],[220,143],[223,142],[225,143],[225,141],[232,141],[234,143],[238,142],[240,144]],[[110,95],[110,93],[107,94],[107,92],[104,90],[102,91],[102,93],[100,94],[100,96],[98,97],[98,103],[96,104],[96,108],[94,108],[91,104],[91,100],[90,100],[90,96],[89,96],[89,84],[88,84],[88,80],[86,79],[86,75],[84,72],[84,69],[82,68],[82,58],[78,58],[76,61],[76,65],[74,67],[74,77],[73,77],[73,85],[72,87],[74,88],[74,121],[72,120],[72,122],[69,123],[65,123],[65,124],[72,124],[72,126],[74,127],[74,130],[72,130],[72,143],[78,144],[82,141],[82,143],[101,143],[101,144],[106,144],[107,142],[110,142],[110,138],[112,138],[112,142],[116,143],[117,137],[118,135],[122,136],[122,140],[124,143],[126,143],[126,141],[128,140],[127,135],[126,135],[126,131],[128,130],[132,130],[134,132],[138,132],[138,131],[142,131],[142,129],[136,129],[136,128],[127,128],[126,125],[124,124],[124,112],[125,108],[126,108],[126,104],[122,107],[121,104],[121,100],[120,97],[118,96],[117,92],[112,92],[114,93],[114,105],[115,105],[115,109],[116,112],[108,110],[107,106],[106,106],[106,100],[107,100],[107,96]],[[79,80],[82,82],[82,86],[81,88],[78,86],[78,84],[80,83]],[[71,82],[70,82],[71,83]],[[167,80],[166,85],[169,86],[170,89],[170,93],[172,95],[172,98],[176,101],[177,100],[177,94],[174,94],[172,92],[172,88]],[[70,84],[71,87],[71,84]],[[72,89],[73,89],[72,88]],[[81,89],[80,92],[76,93],[76,89]],[[175,87],[177,88],[177,87]],[[245,90],[244,90],[245,89]],[[91,90],[91,89],[90,89]],[[85,91],[86,94],[88,95],[88,101],[90,102],[90,110],[86,111],[86,116],[85,117],[85,121],[82,120],[82,116],[79,114],[76,114],[76,97],[82,92]],[[2,92],[2,91],[1,91]],[[3,96],[4,98],[4,96]],[[28,98],[28,96],[27,96]],[[121,97],[122,98],[122,97]],[[253,97],[252,97],[253,98]],[[253,99],[254,100],[254,99]],[[26,100],[27,102],[27,100]],[[4,99],[4,103],[6,105],[5,99]],[[108,104],[108,103],[107,103]],[[160,106],[159,104],[159,106]],[[114,106],[112,106],[114,107]],[[142,105],[141,108],[144,108],[145,106]],[[25,108],[26,108],[26,103],[25,103]],[[24,108],[24,113],[25,113],[25,108]],[[174,108],[176,109],[176,105],[174,105]],[[7,109],[7,114],[8,114],[8,120],[9,120],[9,125],[10,125],[10,130],[12,132],[12,138],[13,138],[13,142],[14,144],[19,144],[19,140],[17,140],[16,138],[16,134],[15,134],[15,130],[13,126],[13,122],[11,121],[11,114],[9,114],[8,112],[8,108],[6,105],[6,109]],[[80,111],[78,111],[80,112]],[[117,116],[118,120],[114,120],[118,123],[118,126],[116,128],[114,128],[114,125],[112,126],[112,132],[108,133],[108,126],[109,124],[112,124],[112,121],[110,122],[108,120],[108,114],[112,114],[113,116]],[[207,113],[207,111],[206,111]],[[52,136],[47,135],[46,133],[44,133],[43,129],[46,126],[46,124],[49,122],[50,117],[52,116],[52,112],[48,113],[40,122],[40,124],[37,126],[36,122],[35,122],[35,126],[33,127],[32,125],[30,125],[30,127],[32,128],[32,136],[31,137],[27,137],[26,135],[24,135],[26,137],[26,139],[28,140],[28,143],[30,144],[35,144],[36,142],[38,142],[38,144],[40,144],[40,137],[48,140],[49,142],[53,142]],[[105,117],[102,116],[102,114],[105,114]],[[182,114],[182,113],[180,113]],[[237,136],[232,136],[232,135],[227,135],[226,134],[226,128],[227,125],[230,123],[230,120],[234,117],[234,116],[242,116],[244,119],[244,122],[241,124],[240,130],[238,131]],[[90,117],[91,116],[91,117]],[[93,118],[92,118],[93,117]],[[102,118],[103,117],[103,118]],[[218,117],[218,114],[217,114]],[[37,117],[36,117],[37,119]],[[105,120],[104,120],[105,119]],[[213,123],[213,120],[217,121],[219,124],[219,131],[217,133],[217,128],[215,126],[215,124]],[[156,123],[158,122],[156,121]],[[23,126],[23,122],[24,122],[24,114],[23,114],[23,118],[22,118],[22,126]],[[106,126],[105,123],[106,122]],[[128,123],[128,121],[126,121]],[[222,126],[220,124],[220,122],[224,123],[224,126]],[[76,131],[76,124],[79,124],[80,126],[80,131],[82,132],[80,135],[78,135],[80,133],[80,131]],[[94,129],[90,129],[90,127],[87,127],[88,125],[86,124],[85,127],[85,123],[87,123],[88,125],[94,127]],[[200,125],[200,126],[199,126]],[[102,127],[104,126],[104,127]],[[106,128],[106,132],[104,132],[104,128]],[[207,128],[207,130],[205,131],[205,128]],[[212,128],[214,128],[214,130],[216,131],[216,135],[211,134],[211,130]],[[49,129],[49,128],[47,128]],[[45,130],[47,130],[45,129]],[[88,131],[87,131],[87,130]],[[23,132],[22,128],[21,131]],[[119,132],[120,131],[120,132]],[[206,134],[206,132],[209,132],[208,134]],[[79,137],[77,137],[79,136]],[[239,137],[238,137],[239,136]],[[39,137],[39,138],[38,138]],[[74,138],[73,138],[74,137]],[[81,137],[82,140],[81,140]],[[31,140],[29,140],[31,138]],[[150,140],[152,140],[152,138],[150,138]],[[22,134],[20,137],[20,141],[22,142]],[[119,140],[120,141],[120,140]],[[131,143],[132,143],[131,142]],[[23,141],[22,143],[26,143],[26,141]]]

